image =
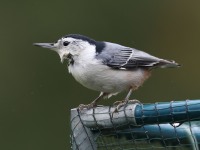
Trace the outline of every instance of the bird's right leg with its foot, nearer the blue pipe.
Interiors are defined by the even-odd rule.
[[[122,100],[122,101],[116,101],[116,102],[114,103],[114,105],[117,105],[117,106],[116,106],[116,108],[115,108],[115,110],[114,110],[113,113],[118,112],[119,109],[120,109],[122,106],[126,105],[127,103],[131,103],[131,104],[139,103],[139,104],[140,104],[140,101],[138,101],[138,100],[136,100],[136,99],[135,99],[135,100],[129,100],[129,98],[130,98],[132,92],[133,92],[133,89],[131,88],[131,89],[129,90],[128,94],[126,95],[126,97],[125,97],[124,100]]]

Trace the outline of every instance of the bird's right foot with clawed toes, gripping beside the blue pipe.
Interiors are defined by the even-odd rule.
[[[114,106],[116,106],[116,105],[117,106],[115,107],[115,110],[113,111],[112,116],[113,116],[114,113],[118,112],[121,107],[123,107],[127,104],[141,104],[141,102],[139,100],[136,100],[136,99],[116,101],[116,102],[113,103]]]

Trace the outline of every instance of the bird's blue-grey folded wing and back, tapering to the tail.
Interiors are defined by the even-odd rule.
[[[177,67],[174,61],[157,58],[134,48],[124,47],[106,42],[106,47],[97,58],[103,63],[116,69],[134,69],[137,67]]]

